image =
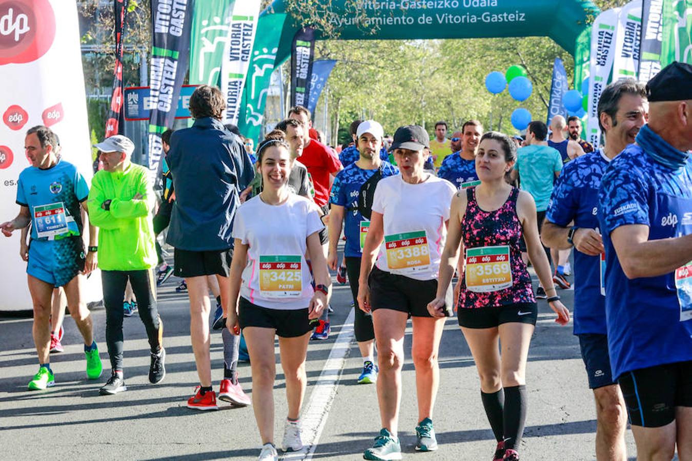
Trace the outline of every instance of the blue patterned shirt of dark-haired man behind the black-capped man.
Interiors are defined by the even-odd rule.
[[[610,159],[599,149],[565,164],[545,217],[567,227],[599,229],[599,188]],[[605,298],[601,295],[601,261],[574,250],[574,334],[606,334]]]

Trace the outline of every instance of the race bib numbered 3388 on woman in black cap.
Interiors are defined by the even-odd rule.
[[[394,274],[412,274],[430,265],[428,236],[424,230],[385,235],[387,267]]]

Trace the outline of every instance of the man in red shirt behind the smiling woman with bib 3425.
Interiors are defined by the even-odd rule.
[[[310,111],[303,106],[295,106],[289,109],[289,118],[300,120],[306,127],[311,128]],[[315,186],[315,203],[327,214],[329,209],[329,189],[331,189],[332,176],[343,169],[338,157],[321,142],[309,137],[308,131],[304,131],[305,144],[303,152],[296,160],[307,167],[307,172]]]

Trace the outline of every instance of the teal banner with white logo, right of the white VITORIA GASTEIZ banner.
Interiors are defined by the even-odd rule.
[[[259,141],[262,134],[267,88],[276,64],[276,52],[284,21],[286,13],[264,15],[257,21],[257,28],[265,33],[257,36],[253,46],[250,69],[243,91],[241,116],[238,120],[240,132],[255,142]]]

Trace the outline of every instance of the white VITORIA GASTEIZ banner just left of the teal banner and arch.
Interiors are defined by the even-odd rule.
[[[221,63],[221,93],[226,97],[225,123],[238,124],[240,102],[245,77],[250,67],[259,15],[260,0],[241,0],[233,6],[224,59]]]

